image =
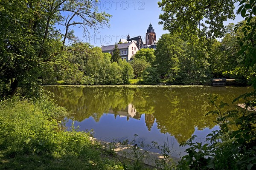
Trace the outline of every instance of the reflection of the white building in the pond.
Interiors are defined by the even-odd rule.
[[[129,120],[129,118],[134,118],[134,119],[140,119],[140,113],[138,113],[134,107],[134,105],[132,105],[131,103],[125,108],[125,109],[121,109],[120,111],[114,111],[115,109],[111,109],[109,110],[108,113],[114,113],[115,114],[115,118],[117,115],[119,115],[120,117],[127,117],[127,121]]]

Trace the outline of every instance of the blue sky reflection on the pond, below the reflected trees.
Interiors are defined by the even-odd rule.
[[[66,126],[70,127],[72,120],[69,119]],[[128,139],[131,141],[134,139],[134,134],[137,134],[137,141],[143,141],[146,144],[151,144],[151,141],[158,142],[158,144],[163,144],[164,141],[169,141],[169,146],[173,145],[172,151],[174,152],[172,156],[180,157],[185,155],[185,147],[179,147],[179,143],[174,136],[169,134],[160,133],[160,130],[157,129],[157,123],[154,122],[154,125],[151,127],[151,130],[148,131],[148,128],[145,125],[145,114],[141,115],[140,120],[130,118],[128,121],[126,116],[116,116],[114,114],[103,114],[99,122],[95,122],[93,117],[89,117],[82,122],[75,122],[75,127],[79,126],[81,131],[93,129],[93,136],[97,139],[103,140],[105,142],[111,142],[112,139],[118,139],[123,141]],[[204,142],[205,138],[211,130],[218,130],[218,126],[213,127],[212,129],[205,128],[204,130],[198,130],[195,127],[195,132],[193,135],[197,135],[198,138],[196,142]],[[159,152],[154,149],[152,152]]]

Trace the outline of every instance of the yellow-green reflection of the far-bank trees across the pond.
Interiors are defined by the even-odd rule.
[[[213,110],[209,104],[209,94],[218,94],[222,101],[231,100],[250,89],[226,87],[187,87],[187,88],[116,88],[116,87],[45,87],[55,93],[59,105],[76,113],[75,119],[82,121],[90,116],[99,121],[103,113],[113,113],[115,116],[127,114],[140,119],[145,113],[145,123],[148,130],[157,122],[157,128],[162,133],[170,133],[178,142],[187,140],[194,133],[205,127],[212,128],[214,116],[205,117],[207,111]],[[136,114],[128,113],[129,107]],[[233,109],[233,108],[232,108]],[[127,112],[127,113],[126,113]],[[130,111],[129,111],[130,112]]]

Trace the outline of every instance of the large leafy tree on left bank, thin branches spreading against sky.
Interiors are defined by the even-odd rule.
[[[97,31],[108,26],[109,17],[98,11],[96,0],[0,1],[1,96],[14,95],[17,87],[35,93],[66,42],[78,40],[72,28]]]

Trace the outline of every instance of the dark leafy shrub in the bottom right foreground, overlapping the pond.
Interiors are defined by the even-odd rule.
[[[244,94],[233,102],[243,98],[246,100],[246,109],[256,106],[256,91]],[[208,137],[208,143],[194,142],[192,136],[183,146],[187,145],[188,155],[183,156],[178,169],[255,169],[256,166],[256,112],[250,111],[225,111],[227,103],[216,103],[217,96],[210,99],[217,110],[209,111],[206,115],[217,115],[216,122],[220,130],[213,131]],[[231,125],[236,130],[231,130]]]

